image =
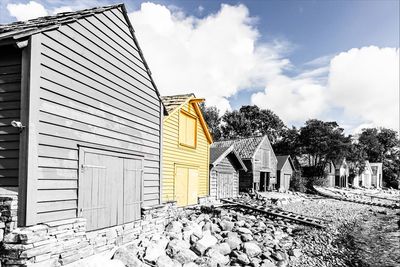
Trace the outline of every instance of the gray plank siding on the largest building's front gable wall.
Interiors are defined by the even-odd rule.
[[[144,156],[144,203],[160,203],[160,100],[120,10],[42,33],[39,222],[76,217],[78,145]]]

